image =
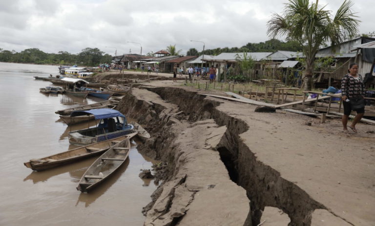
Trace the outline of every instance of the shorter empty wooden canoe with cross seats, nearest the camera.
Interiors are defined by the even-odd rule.
[[[129,151],[129,139],[125,139],[109,148],[86,170],[77,186],[77,190],[87,193],[101,184],[125,163]]]

